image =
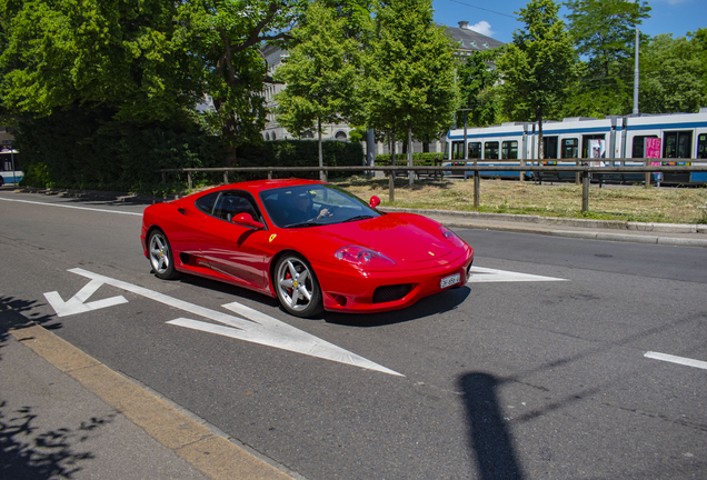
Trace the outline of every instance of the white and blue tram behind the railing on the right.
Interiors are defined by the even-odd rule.
[[[468,152],[465,152],[465,136]],[[465,164],[477,159],[478,166],[575,166],[596,161],[601,166],[643,166],[633,159],[660,158],[664,166],[707,164],[707,108],[699,113],[639,114],[628,117],[566,118],[542,122],[542,159],[539,160],[537,123],[509,122],[494,127],[450,130],[447,134],[447,161],[444,166]],[[646,146],[654,150],[646,151]],[[502,162],[500,161],[502,160]],[[516,162],[514,161],[516,160]],[[703,161],[700,161],[703,160]],[[474,164],[474,161],[466,161]],[[593,163],[595,164],[595,163]],[[470,172],[469,172],[470,173]],[[517,171],[484,171],[482,177],[519,178]],[[574,179],[570,172],[555,173],[558,179]],[[528,180],[537,173],[525,172]],[[644,173],[603,173],[595,180],[641,182]],[[657,180],[657,178],[654,178]],[[705,184],[707,172],[665,173],[661,183]]]

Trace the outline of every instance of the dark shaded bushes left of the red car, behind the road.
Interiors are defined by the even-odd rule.
[[[160,169],[223,162],[218,138],[188,121],[136,126],[78,108],[21,123],[16,144],[32,187],[160,193],[180,188],[162,186]]]

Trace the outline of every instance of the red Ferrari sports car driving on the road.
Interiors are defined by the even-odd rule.
[[[318,181],[249,181],[148,207],[140,237],[157,277],[245,287],[298,317],[394,310],[466,283],[471,247],[379,203]]]

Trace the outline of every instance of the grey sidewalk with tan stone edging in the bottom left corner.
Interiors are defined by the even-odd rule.
[[[0,304],[0,479],[290,479]]]

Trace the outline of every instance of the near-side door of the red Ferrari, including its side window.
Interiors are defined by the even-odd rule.
[[[213,271],[230,281],[262,290],[267,288],[265,246],[269,233],[233,223],[232,219],[239,213],[248,213],[253,220],[262,221],[249,193],[221,192],[212,213],[201,223],[201,254]]]

